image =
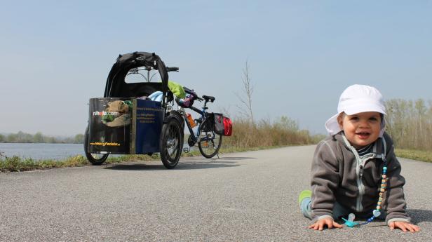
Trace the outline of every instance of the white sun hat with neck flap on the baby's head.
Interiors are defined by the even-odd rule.
[[[339,98],[337,105],[337,114],[332,116],[325,122],[325,128],[330,135],[339,133],[342,129],[337,123],[337,116],[345,112],[345,114],[353,115],[362,112],[379,112],[386,114],[386,107],[384,107],[384,99],[382,94],[379,93],[377,88],[365,85],[353,85],[344,90]],[[381,122],[381,132],[379,136],[382,137],[386,123],[384,119]]]

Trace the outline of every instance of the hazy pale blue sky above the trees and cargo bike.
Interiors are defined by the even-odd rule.
[[[239,117],[325,134],[342,91],[432,100],[432,1],[0,0],[0,133],[83,133],[119,54],[158,54],[170,80]],[[234,130],[235,132],[235,130]]]

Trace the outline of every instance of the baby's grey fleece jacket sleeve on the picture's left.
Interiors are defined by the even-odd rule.
[[[339,162],[328,140],[318,144],[311,168],[312,220],[332,217],[339,184]]]

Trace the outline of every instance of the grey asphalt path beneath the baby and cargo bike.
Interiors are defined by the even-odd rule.
[[[416,234],[306,229],[314,146],[0,173],[0,241],[432,241],[432,163],[400,159]]]

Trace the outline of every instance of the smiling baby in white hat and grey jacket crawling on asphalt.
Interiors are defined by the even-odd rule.
[[[313,222],[309,228],[341,228],[335,220],[353,213],[366,220],[363,224],[379,218],[390,229],[419,231],[405,212],[405,179],[391,137],[384,132],[386,112],[379,90],[349,86],[337,112],[325,123],[330,136],[316,147],[311,190],[299,196],[302,213]]]

